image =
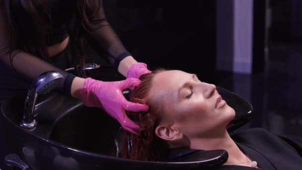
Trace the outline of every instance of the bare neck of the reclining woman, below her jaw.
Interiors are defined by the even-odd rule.
[[[241,152],[236,143],[230,138],[226,129],[220,133],[211,133],[211,135],[207,135],[206,137],[190,139],[190,142],[191,149],[226,150],[228,153],[228,159],[225,164],[227,165],[246,161],[245,155]]]

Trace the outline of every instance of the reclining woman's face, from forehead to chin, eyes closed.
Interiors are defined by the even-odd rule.
[[[151,91],[155,100],[164,105],[165,120],[172,120],[173,126],[189,138],[204,137],[226,128],[235,116],[227,104],[216,108],[220,95],[215,85],[201,82],[186,72],[172,70],[157,74]]]

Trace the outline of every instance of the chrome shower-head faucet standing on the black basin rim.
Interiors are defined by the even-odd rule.
[[[61,73],[56,71],[48,71],[42,73],[36,79],[36,81],[32,83],[25,98],[23,120],[20,123],[22,127],[26,129],[32,129],[37,125],[33,112],[38,94],[48,93],[49,91],[60,85],[63,80],[64,77],[61,75]]]

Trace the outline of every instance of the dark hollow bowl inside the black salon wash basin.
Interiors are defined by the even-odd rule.
[[[120,156],[122,128],[106,112],[80,105],[55,122],[49,139],[94,154]],[[118,155],[119,154],[119,155]]]

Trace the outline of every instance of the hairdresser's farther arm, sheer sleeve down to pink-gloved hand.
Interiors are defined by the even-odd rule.
[[[149,73],[145,63],[138,63],[125,49],[116,32],[108,23],[102,0],[88,0],[87,17],[90,19],[88,28],[99,44],[109,54],[109,62],[119,73],[127,78],[139,78]],[[99,7],[99,8],[98,8]]]

